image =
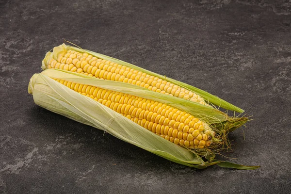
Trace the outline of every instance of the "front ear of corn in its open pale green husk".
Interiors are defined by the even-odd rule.
[[[220,138],[219,134],[223,131],[215,129],[218,134],[214,133],[206,121],[192,113],[195,113],[194,108],[201,108],[206,115],[214,113],[212,115],[218,119],[220,114],[227,117],[224,113],[213,112],[213,108],[197,103],[190,103],[193,107],[188,109],[179,106],[185,100],[165,97],[139,86],[129,86],[127,83],[117,84],[114,81],[49,69],[32,76],[29,93],[33,94],[34,102],[39,106],[105,130],[173,162],[195,168],[214,164],[247,170],[259,167],[214,160],[212,154],[215,152],[211,152],[210,145],[220,141],[214,136]],[[192,112],[186,113],[185,110]],[[199,111],[197,115],[201,115]],[[238,121],[237,127],[243,120]],[[208,161],[204,162],[199,155],[204,155]]]

